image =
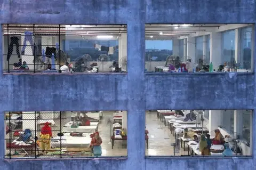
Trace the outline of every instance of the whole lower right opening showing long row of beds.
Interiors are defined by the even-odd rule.
[[[146,111],[146,156],[251,156],[251,122],[252,110]]]

